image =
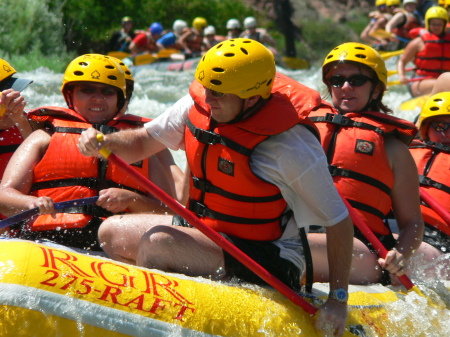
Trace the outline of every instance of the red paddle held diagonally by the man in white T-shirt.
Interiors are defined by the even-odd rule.
[[[97,140],[99,142],[103,141],[103,134],[97,135]],[[102,148],[100,150],[102,156],[104,156],[109,161],[113,162],[119,169],[121,169],[124,173],[128,174],[132,179],[139,184],[149,193],[153,194],[156,198],[165,203],[168,207],[170,207],[175,213],[183,217],[185,220],[189,222],[192,226],[197,228],[200,232],[206,235],[209,239],[211,239],[215,244],[220,246],[223,250],[228,252],[234,258],[236,258],[239,262],[253,271],[256,275],[270,284],[273,288],[278,290],[281,294],[286,296],[289,300],[291,300],[294,304],[300,306],[305,312],[310,315],[315,315],[317,313],[317,308],[312,304],[303,299],[300,295],[294,292],[287,285],[278,280],[275,276],[270,274],[267,270],[265,270],[262,266],[260,266],[256,261],[251,259],[248,255],[242,252],[239,248],[234,246],[230,241],[225,239],[218,232],[210,228],[206,223],[200,220],[194,213],[187,210],[184,206],[179,204],[175,199],[169,196],[166,192],[160,189],[157,185],[155,185],[152,181],[144,177],[142,174],[134,170],[128,163],[126,163],[122,158],[112,153],[108,149]]]

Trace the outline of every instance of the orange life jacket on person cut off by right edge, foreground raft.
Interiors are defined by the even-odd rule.
[[[450,211],[450,146],[414,141],[409,147],[419,171],[420,186]],[[428,205],[422,203],[424,221],[450,235],[450,227]]]

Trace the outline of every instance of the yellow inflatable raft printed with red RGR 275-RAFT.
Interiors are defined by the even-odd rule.
[[[326,284],[315,284],[313,304],[327,293]],[[402,296],[380,285],[351,286],[345,335],[396,336],[387,306]],[[138,268],[57,245],[0,240],[3,337],[320,336],[313,324],[313,317],[271,289]]]

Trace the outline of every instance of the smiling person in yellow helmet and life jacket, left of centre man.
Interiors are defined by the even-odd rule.
[[[20,145],[0,185],[0,211],[8,216],[39,207],[40,215],[11,226],[11,236],[50,239],[75,248],[100,251],[97,229],[102,219],[119,212],[167,212],[147,197],[140,185],[105,160],[81,155],[76,144],[83,130],[105,133],[136,128],[148,119],[124,114],[126,82],[113,58],[87,54],[74,59],[64,74],[61,91],[68,108],[41,107],[29,112],[44,123]],[[149,177],[161,175],[147,159],[134,168]],[[167,180],[167,176],[164,177]],[[158,181],[172,193],[170,181]],[[95,205],[55,212],[54,203],[99,196]]]

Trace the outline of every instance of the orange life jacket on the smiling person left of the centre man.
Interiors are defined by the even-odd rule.
[[[31,195],[48,196],[54,202],[97,196],[99,191],[111,187],[125,188],[137,193],[144,189],[106,160],[86,157],[77,148],[81,132],[94,127],[103,133],[112,133],[143,125],[149,119],[124,115],[107,125],[90,124],[75,111],[59,107],[43,107],[31,111],[30,118],[45,121],[53,131],[50,144],[41,161],[34,168]],[[136,163],[134,169],[148,177],[148,161]],[[112,213],[96,205],[73,207],[51,215],[40,215],[30,223],[32,231],[56,228],[82,228],[93,217],[106,217]]]

